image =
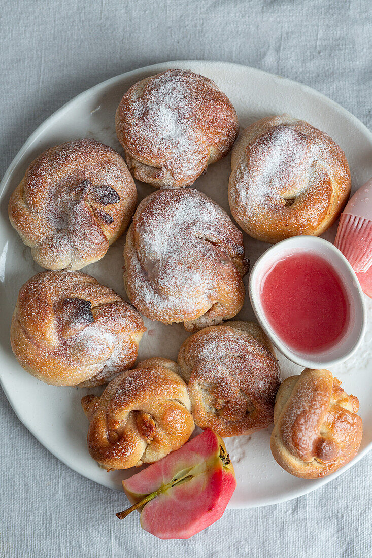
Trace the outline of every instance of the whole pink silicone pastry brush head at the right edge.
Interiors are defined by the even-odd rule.
[[[363,291],[372,286],[372,179],[348,201],[341,213],[335,246],[349,260]]]

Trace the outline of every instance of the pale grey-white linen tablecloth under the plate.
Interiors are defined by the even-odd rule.
[[[301,81],[372,128],[370,0],[2,0],[0,174],[69,99],[166,60],[225,60]],[[372,363],[371,363],[372,369]],[[0,556],[197,558],[372,556],[372,454],[325,487],[227,511],[186,541],[160,541],[122,494],[60,463],[0,390]]]

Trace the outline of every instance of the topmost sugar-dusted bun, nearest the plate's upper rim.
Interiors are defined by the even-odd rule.
[[[142,79],[116,111],[116,134],[132,175],[157,188],[193,184],[227,155],[238,133],[226,95],[189,70]]]

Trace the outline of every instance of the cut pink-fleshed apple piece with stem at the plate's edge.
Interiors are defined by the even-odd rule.
[[[125,518],[141,511],[141,527],[159,538],[189,538],[220,519],[236,488],[225,444],[204,430],[177,451],[123,480],[133,506],[117,513]]]

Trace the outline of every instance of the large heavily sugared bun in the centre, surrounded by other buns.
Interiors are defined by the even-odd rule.
[[[142,200],[124,257],[128,297],[151,320],[183,321],[192,331],[241,310],[242,233],[198,190],[159,190]]]

